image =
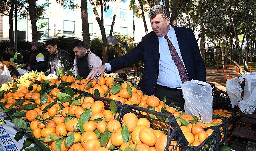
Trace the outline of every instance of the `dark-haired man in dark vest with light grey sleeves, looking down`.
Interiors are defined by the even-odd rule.
[[[82,41],[75,41],[72,44],[72,49],[75,52],[74,74],[86,78],[93,68],[102,64],[101,59],[91,52],[90,48],[85,48]]]

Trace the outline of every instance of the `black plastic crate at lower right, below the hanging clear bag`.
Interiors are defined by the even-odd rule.
[[[189,145],[187,148],[188,151],[219,151],[220,128],[216,126],[204,128],[204,130],[208,129],[212,129],[214,131],[209,137],[207,137],[202,143],[200,143],[200,145]]]

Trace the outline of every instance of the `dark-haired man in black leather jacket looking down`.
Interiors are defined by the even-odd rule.
[[[73,71],[73,62],[71,60],[71,55],[60,49],[57,43],[50,39],[46,41],[47,51],[50,53],[48,60],[48,69],[50,74],[59,75],[59,70],[67,73],[67,71]]]

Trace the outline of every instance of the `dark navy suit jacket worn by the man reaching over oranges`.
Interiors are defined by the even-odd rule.
[[[206,70],[202,56],[196,42],[192,29],[173,26],[181,50],[181,56],[189,79],[206,81]],[[157,35],[151,31],[145,35],[141,42],[129,53],[109,61],[111,71],[130,66],[143,60],[144,72],[141,80],[141,91],[143,94],[153,95],[157,77],[159,75],[159,41]]]

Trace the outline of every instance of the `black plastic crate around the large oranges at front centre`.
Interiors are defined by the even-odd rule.
[[[147,118],[150,121],[151,128],[154,130],[161,130],[164,134],[167,134],[168,145],[165,148],[165,151],[168,150],[168,147],[171,147],[172,151],[185,151],[187,149],[189,142],[185,138],[173,115],[149,110],[139,106],[124,105],[123,108],[121,108],[117,120],[121,122],[123,116],[129,112],[136,114],[138,118]],[[152,116],[154,116],[154,118]],[[175,143],[175,141],[177,143]]]

